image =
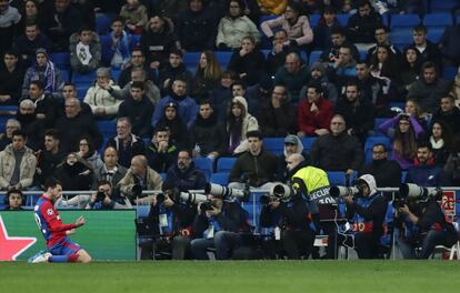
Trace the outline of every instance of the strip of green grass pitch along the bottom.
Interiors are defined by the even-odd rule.
[[[0,263],[0,292],[460,292],[460,262]]]

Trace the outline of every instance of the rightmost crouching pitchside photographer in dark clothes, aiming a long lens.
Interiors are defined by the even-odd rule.
[[[457,232],[447,220],[438,196],[407,196],[407,203],[398,208],[394,225],[396,236],[404,259],[428,259],[437,245],[452,246],[458,241]],[[421,247],[417,251],[417,247]]]

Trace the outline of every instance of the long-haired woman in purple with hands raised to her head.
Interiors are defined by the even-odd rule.
[[[410,169],[417,155],[417,140],[423,135],[423,129],[417,119],[413,115],[398,114],[383,122],[379,130],[392,140],[391,159],[402,170]]]

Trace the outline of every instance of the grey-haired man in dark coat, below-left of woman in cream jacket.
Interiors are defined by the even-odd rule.
[[[79,139],[88,134],[94,143],[94,149],[99,149],[102,143],[102,135],[91,114],[81,111],[78,99],[69,98],[66,100],[64,115],[60,117],[54,128],[61,133],[61,146],[64,153],[76,151]]]

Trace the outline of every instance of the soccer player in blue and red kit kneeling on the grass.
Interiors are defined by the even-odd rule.
[[[37,224],[47,240],[47,251],[32,256],[29,262],[90,262],[91,256],[73,243],[69,235],[76,233],[76,229],[84,225],[82,216],[74,224],[62,223],[61,216],[54,209],[54,202],[62,195],[62,185],[50,178],[44,183],[46,192],[33,208]]]

